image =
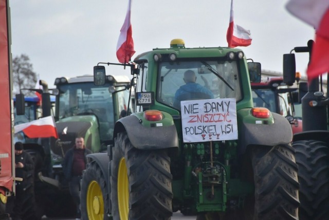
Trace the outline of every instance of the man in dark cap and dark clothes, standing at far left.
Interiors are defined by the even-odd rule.
[[[15,177],[23,178],[16,181],[15,196],[9,196],[6,205],[6,212],[13,220],[23,219],[23,201],[31,192],[33,194],[33,170],[34,164],[31,156],[23,150],[23,143],[15,143]],[[32,189],[32,190],[28,190]],[[31,195],[33,197],[33,195]],[[26,208],[26,207],[24,207]]]

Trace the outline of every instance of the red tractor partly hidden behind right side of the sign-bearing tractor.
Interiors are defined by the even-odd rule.
[[[303,130],[301,117],[295,116],[293,93],[297,88],[288,87],[283,77],[263,77],[261,82],[251,83],[251,89],[254,106],[286,117],[294,134]]]

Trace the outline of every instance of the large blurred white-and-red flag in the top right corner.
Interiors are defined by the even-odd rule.
[[[290,0],[286,9],[315,30],[307,78],[312,80],[329,71],[329,1]]]

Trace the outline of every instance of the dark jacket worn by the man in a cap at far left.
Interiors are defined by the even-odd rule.
[[[15,163],[19,162],[23,163],[24,167],[16,168],[15,176],[23,178],[23,182],[25,182],[27,181],[28,174],[33,174],[34,163],[32,157],[25,151],[23,151],[20,155],[15,155]]]

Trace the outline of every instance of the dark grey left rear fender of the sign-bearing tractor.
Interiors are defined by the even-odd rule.
[[[137,149],[178,149],[178,135],[174,124],[146,127],[136,116],[130,115],[116,122],[113,137],[116,138],[120,132],[127,132],[130,142]]]

